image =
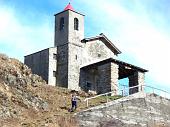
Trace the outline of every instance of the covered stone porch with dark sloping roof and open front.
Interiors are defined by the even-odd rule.
[[[142,85],[144,85],[145,72],[147,71],[132,64],[109,58],[82,67],[80,69],[80,87],[86,92],[93,91],[101,94],[114,91],[114,95],[118,95],[118,81],[128,78],[129,87],[138,86],[129,90],[129,94],[133,94],[143,90]]]

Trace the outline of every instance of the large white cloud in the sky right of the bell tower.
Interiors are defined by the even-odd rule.
[[[117,41],[116,45],[122,49],[122,56],[131,56],[135,59],[129,63],[149,69],[147,76],[152,79],[152,82],[148,82],[149,85],[159,84],[170,90],[168,86],[170,84],[170,37],[166,28],[160,28],[162,24],[156,27],[151,20],[161,17],[162,19],[158,19],[160,22],[158,20],[157,22],[164,23],[166,17],[154,11],[152,15],[147,14],[148,8],[137,1],[131,5],[134,6],[133,9],[127,8],[122,5],[122,1],[118,0],[83,2],[90,12],[88,14],[93,18],[92,21],[98,21],[95,25],[98,25],[111,40]],[[166,24],[162,26],[164,25]]]

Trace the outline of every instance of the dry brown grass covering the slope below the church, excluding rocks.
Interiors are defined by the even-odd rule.
[[[2,84],[1,84],[2,85]],[[6,93],[6,95],[12,101],[13,95],[11,94],[11,88],[2,85],[0,91]],[[27,92],[31,92],[33,96],[42,98],[48,103],[48,110],[35,110],[27,108],[18,103],[15,103],[15,109],[20,110],[17,118],[5,119],[0,121],[1,127],[78,127],[76,120],[73,115],[75,112],[86,109],[86,102],[84,94],[79,94],[81,102],[78,102],[78,108],[75,112],[69,112],[71,108],[71,94],[72,92],[65,88],[53,87],[49,85],[38,85],[33,87],[28,85],[26,88]],[[14,92],[14,91],[13,91]],[[12,93],[13,93],[12,92]],[[109,101],[116,99],[117,97],[109,97]],[[105,97],[98,97],[90,102],[90,106],[96,106],[106,102]],[[15,120],[14,120],[15,119]]]

